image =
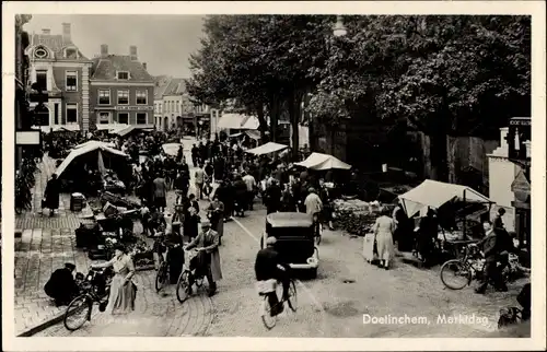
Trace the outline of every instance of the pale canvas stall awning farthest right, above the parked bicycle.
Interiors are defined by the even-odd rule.
[[[492,203],[488,197],[473,188],[432,179],[426,179],[418,187],[399,196],[403,208],[409,218],[416,215],[422,209],[439,209],[453,199],[464,200],[464,198],[468,202]]]

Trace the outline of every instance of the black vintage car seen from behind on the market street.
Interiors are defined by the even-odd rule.
[[[264,248],[266,238],[276,237],[276,249],[281,260],[292,269],[309,270],[317,275],[319,253],[315,246],[312,218],[305,213],[277,212],[266,216],[266,231],[260,238]]]

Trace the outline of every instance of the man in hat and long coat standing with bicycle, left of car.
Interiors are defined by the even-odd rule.
[[[220,266],[220,254],[219,254],[219,234],[211,230],[211,223],[209,221],[203,221],[201,223],[201,233],[194,238],[187,246],[186,250],[197,248],[198,255],[195,258],[197,263],[197,270],[205,272],[207,277],[207,282],[209,283],[209,296],[217,293],[217,282],[222,279],[222,269]],[[193,263],[190,262],[190,267]],[[191,285],[194,283],[194,278],[189,278],[189,291],[191,293]]]

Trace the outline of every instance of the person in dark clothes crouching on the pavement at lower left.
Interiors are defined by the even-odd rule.
[[[73,263],[65,263],[65,268],[55,270],[44,285],[44,291],[55,300],[57,306],[68,305],[80,293],[72,275],[74,269]]]

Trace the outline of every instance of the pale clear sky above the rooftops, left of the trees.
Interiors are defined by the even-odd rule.
[[[152,75],[189,78],[188,58],[202,37],[200,15],[37,14],[24,30],[62,34],[62,23],[71,24],[72,42],[88,58],[98,55],[102,44],[118,55],[129,55],[129,46],[136,45],[139,60],[147,62]]]

